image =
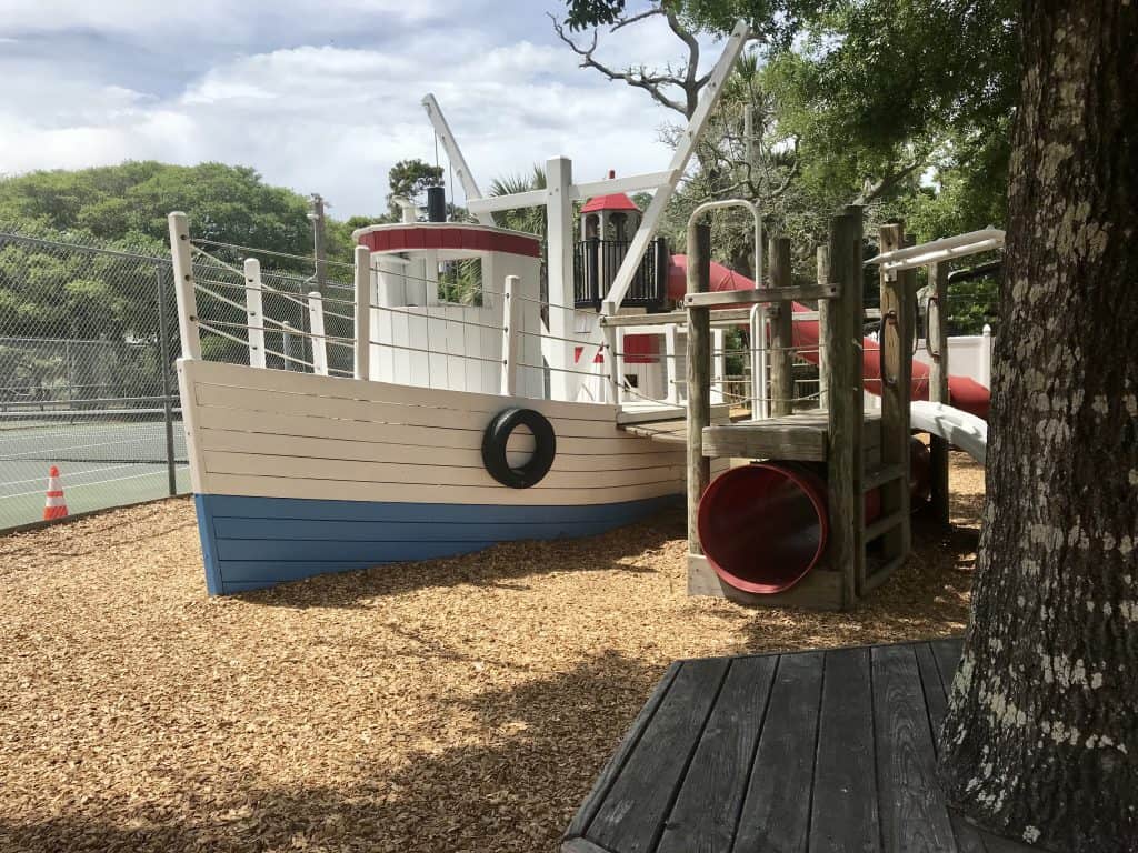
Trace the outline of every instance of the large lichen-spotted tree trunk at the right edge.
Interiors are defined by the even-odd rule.
[[[949,801],[1138,851],[1138,2],[1026,0],[988,503]]]

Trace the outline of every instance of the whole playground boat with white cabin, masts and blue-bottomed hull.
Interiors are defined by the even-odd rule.
[[[646,175],[574,183],[571,163],[559,157],[546,163],[545,189],[483,197],[428,94],[423,106],[477,223],[418,222],[405,208],[402,223],[356,231],[351,299],[298,300],[305,330],[270,316],[272,289],[256,259],[236,271],[244,303],[218,293],[221,282],[195,263],[192,223],[171,214],[179,383],[209,594],[587,536],[681,503],[686,449],[657,440],[651,425],[686,412],[685,320],[661,313],[684,296],[684,257],[655,234],[745,38],[740,25],[727,39],[668,168]],[[655,191],[643,213],[625,196],[635,190]],[[493,218],[534,206],[546,213],[546,289],[539,240]],[[757,212],[756,246],[760,270]],[[754,288],[716,266],[711,290]],[[241,322],[200,312],[205,300],[240,312]],[[721,312],[712,332],[711,413],[720,423],[732,399],[731,325],[751,330],[750,399],[770,396],[766,318],[727,318],[737,313]],[[332,317],[351,332],[325,331]],[[817,349],[817,323],[794,326]],[[287,342],[274,351],[270,340],[282,332],[282,341],[306,339],[311,361]],[[247,363],[204,358],[203,336],[238,345]],[[351,368],[337,367],[333,351],[348,353]],[[756,411],[768,414],[761,403]],[[729,464],[717,459],[712,473]]]

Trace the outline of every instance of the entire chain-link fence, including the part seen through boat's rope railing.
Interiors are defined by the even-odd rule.
[[[312,258],[201,241],[195,247],[203,357],[249,363],[244,263],[262,271],[265,366],[312,372]],[[354,334],[352,266],[329,260],[325,334]],[[327,347],[351,375],[351,347]],[[178,397],[173,270],[133,250],[0,226],[0,531],[42,519],[59,469],[72,514],[190,490]]]

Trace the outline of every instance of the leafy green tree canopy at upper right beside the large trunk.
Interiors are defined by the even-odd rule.
[[[646,14],[618,0],[566,6],[566,24],[578,30],[615,33]],[[1003,224],[1014,0],[657,0],[650,8],[669,10],[688,33],[723,34],[742,17],[757,41],[728,78],[698,165],[667,212],[675,245],[695,205],[728,197],[757,200],[767,229],[792,238],[802,278],[814,274],[828,215],[847,204],[867,206],[871,233],[904,218],[918,240]],[[591,55],[575,49],[588,65]],[[753,272],[744,214],[717,215],[712,239],[723,260]],[[950,323],[979,331],[993,287],[976,282],[972,303],[954,299]]]

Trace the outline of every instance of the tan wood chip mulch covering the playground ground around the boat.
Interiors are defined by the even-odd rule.
[[[678,513],[215,599],[187,499],[0,539],[0,851],[553,853],[674,659],[959,633],[953,490],[843,614],[687,598]]]

